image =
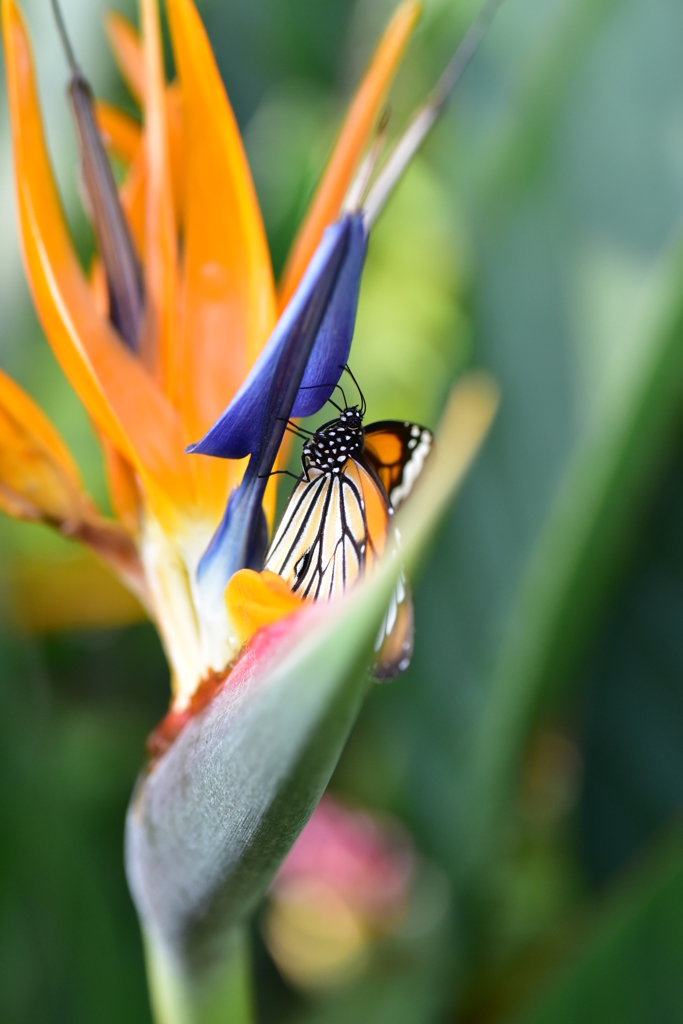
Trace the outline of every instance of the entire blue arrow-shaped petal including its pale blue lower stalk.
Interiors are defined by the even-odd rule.
[[[223,520],[198,566],[203,600],[220,600],[238,569],[261,567],[267,545],[265,486],[297,403],[306,413],[321,409],[341,376],[353,333],[365,251],[359,216],[344,217],[328,228],[262,358],[200,442],[202,446],[194,449],[232,458],[251,455],[242,483],[230,495]]]

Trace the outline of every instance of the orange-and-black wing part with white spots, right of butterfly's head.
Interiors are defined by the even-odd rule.
[[[365,441],[365,458],[382,481],[393,508],[399,508],[431,451],[431,430],[417,423],[380,420],[366,428]]]

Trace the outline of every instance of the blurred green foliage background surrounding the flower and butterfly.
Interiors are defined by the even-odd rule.
[[[109,5],[62,6],[95,91],[132,110]],[[199,3],[276,270],[392,6]],[[66,63],[47,0],[24,9],[87,260]],[[393,131],[475,9],[427,0]],[[332,783],[410,850],[400,912],[278,890],[253,927],[266,1024],[683,1020],[682,48],[679,0],[505,0],[378,224],[351,354],[369,420],[435,426],[469,366],[503,398],[417,584],[414,663]],[[0,230],[0,365],[106,507],[26,288],[4,102]],[[164,656],[43,527],[3,520],[0,565],[0,1018],[150,1022],[122,829]]]

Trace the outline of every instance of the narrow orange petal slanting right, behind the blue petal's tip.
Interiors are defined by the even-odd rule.
[[[422,10],[407,0],[395,11],[373,54],[370,66],[348,109],[332,157],[294,240],[278,290],[284,309],[313,255],[323,231],[339,216],[344,197],[368,145],[389,87]]]

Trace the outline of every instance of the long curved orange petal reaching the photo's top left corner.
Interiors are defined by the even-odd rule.
[[[16,200],[27,275],[52,349],[95,423],[128,458],[168,522],[191,501],[178,418],[140,362],[98,315],[76,258],[43,133],[31,47],[2,0]]]

